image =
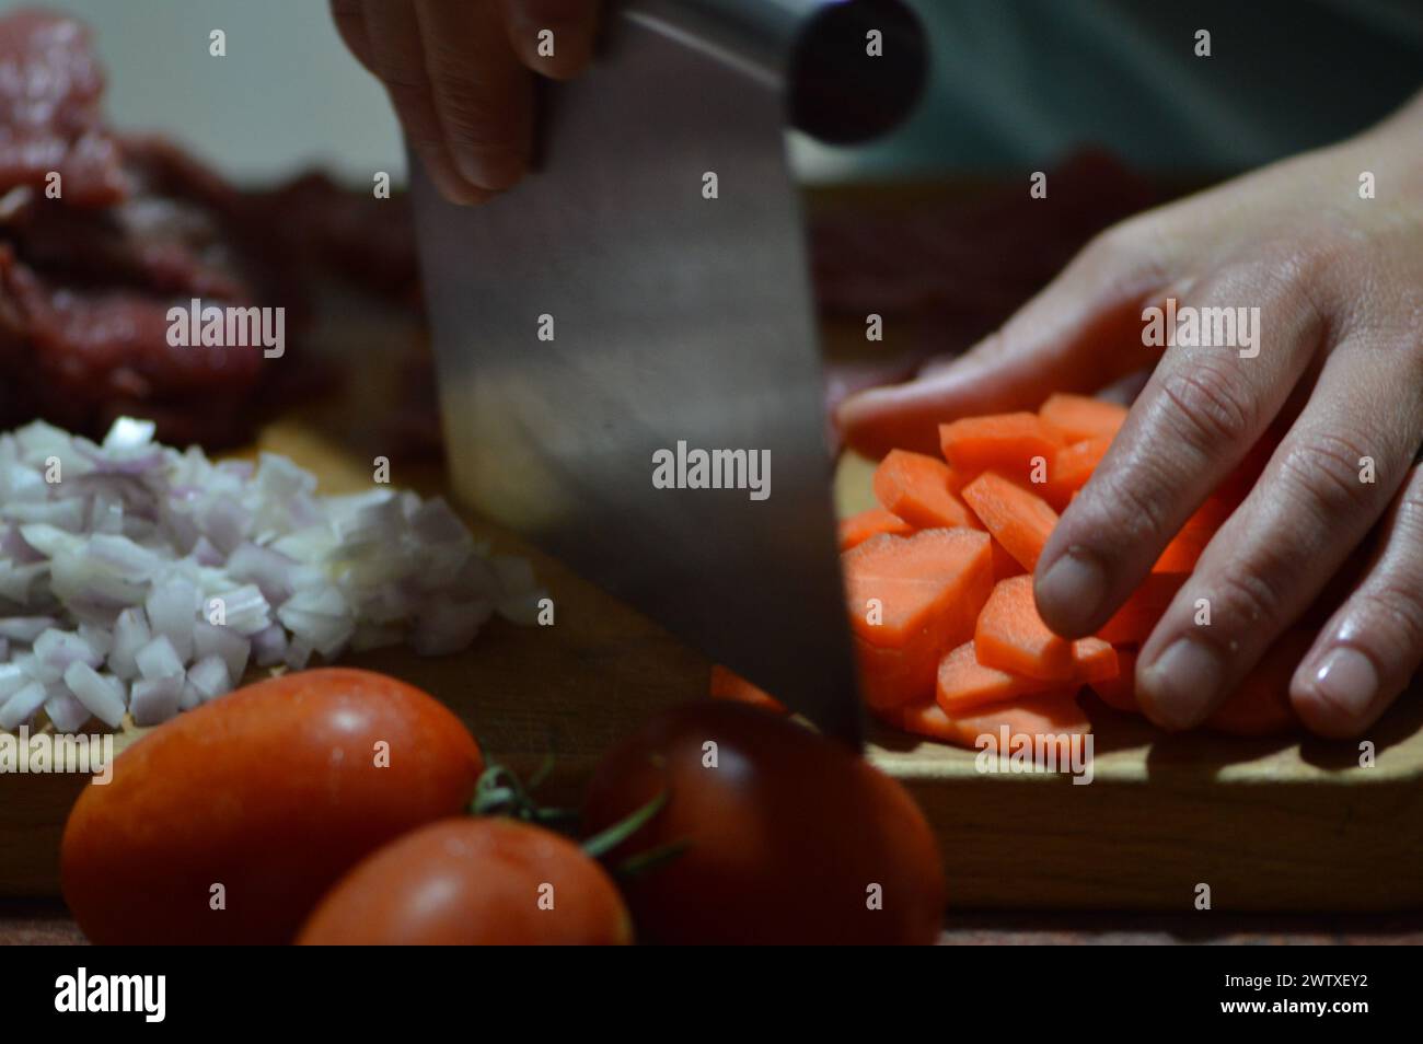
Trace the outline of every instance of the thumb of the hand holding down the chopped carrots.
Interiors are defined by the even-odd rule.
[[[1138,242],[1124,230],[1099,238],[1002,330],[949,366],[845,400],[835,417],[845,441],[868,457],[936,452],[945,421],[1036,410],[1053,391],[1090,393],[1140,368],[1147,361],[1141,304],[1164,277]]]

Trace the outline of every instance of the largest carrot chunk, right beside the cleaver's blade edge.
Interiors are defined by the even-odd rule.
[[[993,586],[988,533],[872,536],[841,560],[859,678],[871,705],[928,698],[943,650],[973,634]]]

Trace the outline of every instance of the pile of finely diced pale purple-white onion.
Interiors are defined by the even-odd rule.
[[[102,445],[0,435],[0,730],[165,721],[249,664],[400,644],[453,653],[491,614],[534,623],[529,563],[488,556],[440,498],[317,496],[262,454],[213,464],[120,418]]]

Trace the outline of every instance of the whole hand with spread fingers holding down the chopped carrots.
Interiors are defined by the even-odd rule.
[[[928,452],[941,421],[1148,371],[1037,562],[1042,617],[1080,637],[1266,430],[1282,431],[1141,647],[1138,698],[1165,727],[1201,723],[1376,529],[1373,558],[1291,683],[1313,731],[1359,734],[1423,660],[1420,135],[1423,97],[1359,138],[1110,229],[961,360],[847,401],[847,441]],[[1376,198],[1360,192],[1365,175]],[[1144,309],[1167,299],[1258,307],[1258,339],[1146,347]]]

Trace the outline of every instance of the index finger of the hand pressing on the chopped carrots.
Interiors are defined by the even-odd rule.
[[[1221,273],[1177,316],[1261,302],[1237,324],[1255,348],[1174,344],[1137,397],[1101,464],[1063,512],[1037,563],[1037,610],[1054,632],[1097,630],[1136,590],[1161,549],[1279,412],[1323,337],[1295,280],[1258,269]],[[1173,299],[1174,300],[1174,299]],[[1228,333],[1224,327],[1221,333]],[[1215,341],[1201,336],[1197,341]],[[1228,340],[1228,337],[1221,337]],[[1257,354],[1251,356],[1251,351]],[[1242,357],[1242,353],[1245,357]]]

